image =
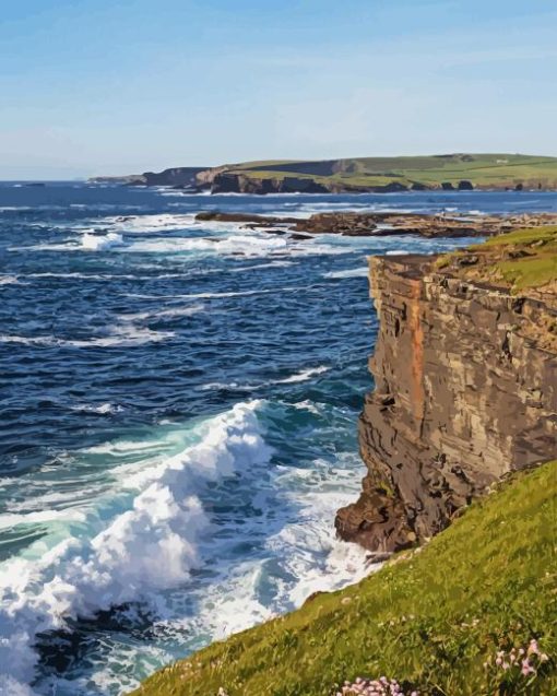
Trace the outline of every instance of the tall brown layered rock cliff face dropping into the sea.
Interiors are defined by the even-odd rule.
[[[557,306],[426,257],[370,263],[380,333],[359,420],[368,473],[340,535],[391,552],[443,529],[507,472],[557,457]]]

